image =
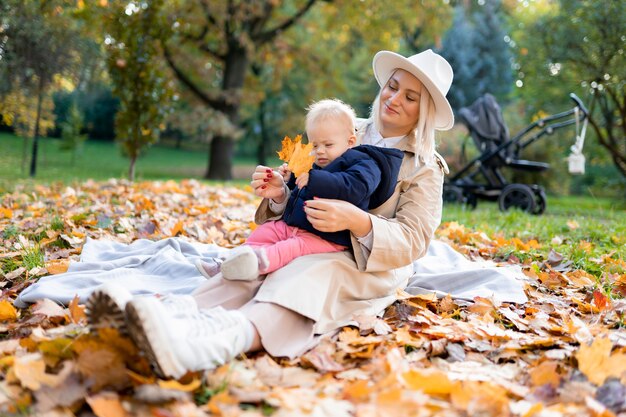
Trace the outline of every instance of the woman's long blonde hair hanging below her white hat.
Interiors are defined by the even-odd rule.
[[[380,121],[380,94],[383,88],[384,86],[378,91],[370,111],[370,119],[374,123],[374,128],[379,132],[382,127]],[[435,102],[426,87],[424,87],[424,84],[422,84],[420,91],[420,113],[415,121],[415,126],[407,133],[407,136],[415,138],[414,152],[416,157],[422,156],[425,161],[433,159],[435,156]]]

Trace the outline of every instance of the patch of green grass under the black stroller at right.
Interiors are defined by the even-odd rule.
[[[443,221],[456,221],[490,237],[535,239],[540,248],[522,251],[504,246],[498,254],[507,259],[545,259],[551,249],[573,261],[573,267],[600,276],[602,255],[626,260],[626,202],[593,197],[548,197],[546,212],[534,216],[519,210],[500,212],[496,203],[483,202],[476,210],[446,204]],[[624,273],[626,271],[615,271]]]

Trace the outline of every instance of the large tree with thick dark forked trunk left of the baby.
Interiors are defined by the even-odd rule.
[[[165,58],[199,100],[239,127],[242,90],[255,51],[300,21],[315,2],[187,2],[175,13],[175,36]],[[215,135],[206,178],[232,177],[233,145],[232,136]]]

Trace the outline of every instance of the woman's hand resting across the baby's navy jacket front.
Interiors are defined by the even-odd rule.
[[[362,237],[372,230],[369,215],[347,201],[328,198],[307,200],[304,212],[307,220],[320,232],[349,230],[356,237]]]

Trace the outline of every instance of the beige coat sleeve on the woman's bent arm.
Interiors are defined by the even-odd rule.
[[[373,241],[368,257],[352,236],[361,271],[388,271],[421,258],[441,222],[443,172],[436,162],[420,167],[413,177],[402,180],[399,187],[394,218],[370,213]]]

